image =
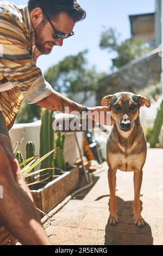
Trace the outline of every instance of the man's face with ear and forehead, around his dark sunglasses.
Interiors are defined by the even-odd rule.
[[[30,19],[35,32],[35,45],[42,54],[51,53],[53,46],[62,46],[63,38],[53,39],[54,30],[51,24],[45,19],[41,8],[37,7],[30,12]],[[75,22],[66,13],[60,13],[55,20],[51,20],[54,28],[64,34],[73,31]],[[68,39],[67,39],[68,40]]]

